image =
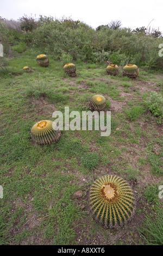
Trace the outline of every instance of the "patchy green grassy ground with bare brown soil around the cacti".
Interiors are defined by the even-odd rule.
[[[9,74],[0,74],[0,244],[161,243],[155,239],[162,220],[156,207],[163,200],[158,197],[163,185],[161,125],[143,102],[149,92],[162,92],[163,74],[140,70],[131,80],[108,76],[106,66],[77,62],[77,76],[68,77],[62,63],[51,57],[48,68],[38,66],[39,53],[24,52],[10,61]],[[26,65],[33,69],[31,74],[22,71]],[[87,111],[94,94],[108,101],[110,136],[62,131],[56,144],[32,143],[30,129],[36,121],[53,120],[52,113],[64,112],[65,106]],[[135,193],[135,217],[122,229],[104,229],[89,213],[90,186],[105,174],[120,175]],[[78,190],[83,196],[77,199],[73,194]],[[156,216],[158,222],[149,225]]]

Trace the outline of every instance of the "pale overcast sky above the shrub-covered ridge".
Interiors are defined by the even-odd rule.
[[[27,14],[36,18],[39,15],[71,17],[96,28],[111,20],[121,20],[122,27],[147,27],[151,22],[163,33],[163,1],[154,0],[0,0],[0,16],[17,20]]]

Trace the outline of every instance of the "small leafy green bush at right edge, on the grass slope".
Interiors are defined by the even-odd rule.
[[[157,123],[161,124],[161,120],[163,117],[163,97],[162,97],[162,95],[159,93],[156,93],[156,92],[151,92],[149,97],[147,97],[145,104],[147,105],[149,111],[151,111],[155,117],[158,117]]]

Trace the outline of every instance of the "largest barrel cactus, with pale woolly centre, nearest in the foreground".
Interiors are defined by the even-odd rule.
[[[119,176],[102,176],[91,186],[90,210],[105,228],[122,227],[135,212],[133,191]]]

